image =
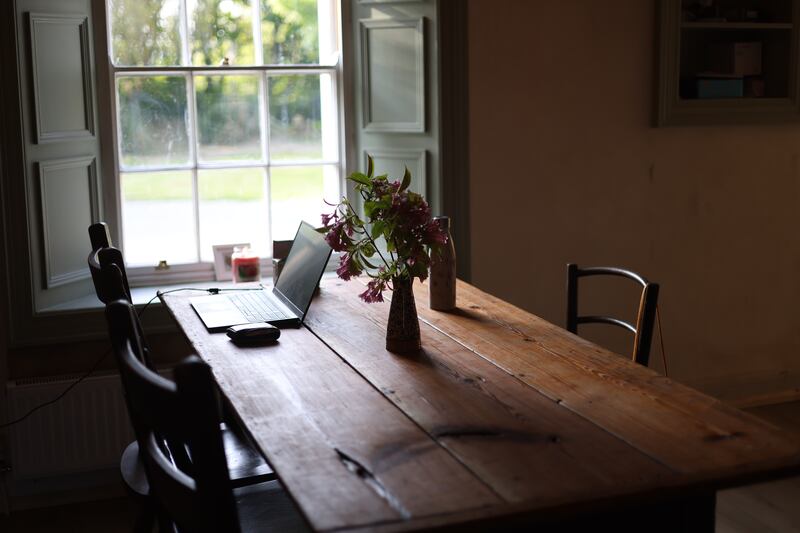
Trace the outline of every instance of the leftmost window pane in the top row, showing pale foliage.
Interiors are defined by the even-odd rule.
[[[178,65],[179,0],[108,0],[116,65]]]

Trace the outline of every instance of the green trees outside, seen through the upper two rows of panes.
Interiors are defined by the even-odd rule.
[[[319,61],[316,0],[260,2],[263,56],[266,63],[308,64]],[[255,61],[249,0],[189,0],[189,50],[194,65],[250,65]],[[118,65],[180,64],[179,2],[111,0],[113,59]],[[243,93],[242,76],[204,76],[195,84],[198,134],[204,144],[236,144],[260,129],[258,98]],[[246,85],[246,83],[245,83]],[[187,109],[179,77],[122,78],[119,84],[120,128],[127,164],[163,164],[185,157]],[[250,88],[252,89],[252,88]],[[291,152],[303,140],[319,135],[319,76],[270,77],[268,110],[275,147]],[[154,132],[161,132],[154,133]],[[293,143],[293,140],[297,142]],[[127,144],[126,144],[127,143]],[[182,144],[183,143],[183,144]],[[306,143],[307,144],[307,143]],[[275,156],[273,152],[273,157]],[[291,157],[319,157],[300,149]]]

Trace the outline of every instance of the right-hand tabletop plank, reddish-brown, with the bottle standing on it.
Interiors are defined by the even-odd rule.
[[[447,313],[428,307],[425,284],[415,287],[424,322],[676,472],[735,483],[800,465],[798,443],[771,424],[467,283]]]

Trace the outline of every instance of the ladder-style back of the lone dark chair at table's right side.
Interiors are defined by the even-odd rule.
[[[630,279],[642,287],[636,324],[630,324],[618,318],[599,315],[578,315],[578,279],[590,276],[617,276]],[[658,283],[651,283],[639,274],[616,267],[578,268],[578,265],[567,265],[567,330],[578,333],[579,324],[611,324],[633,333],[632,358],[637,363],[647,366],[650,362],[650,345],[653,340],[653,329],[658,304]]]

